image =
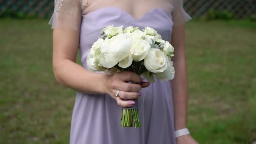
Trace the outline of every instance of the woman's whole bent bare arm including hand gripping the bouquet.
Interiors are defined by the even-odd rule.
[[[69,88],[88,94],[108,94],[117,100],[121,107],[132,107],[131,101],[137,99],[141,88],[149,86],[133,72],[118,72],[114,75],[89,72],[75,63],[79,43],[79,32],[70,29],[53,30],[53,72],[56,80]],[[125,83],[133,81],[138,84]],[[115,97],[117,90],[122,90]]]

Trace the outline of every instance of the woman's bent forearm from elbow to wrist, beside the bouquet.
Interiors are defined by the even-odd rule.
[[[56,80],[64,86],[88,94],[104,94],[107,75],[89,72],[79,64],[63,59],[53,64]]]

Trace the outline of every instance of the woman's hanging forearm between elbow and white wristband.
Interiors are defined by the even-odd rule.
[[[173,86],[173,103],[175,113],[175,130],[187,127],[188,81],[185,60],[173,62],[175,77]]]

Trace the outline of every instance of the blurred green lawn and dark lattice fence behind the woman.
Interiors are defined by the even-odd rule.
[[[0,144],[67,144],[75,91],[52,70],[54,0],[0,0]],[[200,144],[255,144],[256,0],[184,0],[188,128]],[[80,55],[77,55],[80,63]]]

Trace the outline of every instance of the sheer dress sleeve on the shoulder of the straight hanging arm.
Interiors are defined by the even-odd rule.
[[[174,27],[191,20],[191,17],[184,11],[183,0],[174,0],[174,10],[172,13]]]

